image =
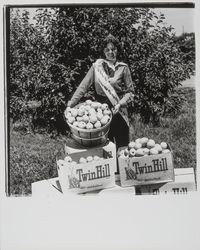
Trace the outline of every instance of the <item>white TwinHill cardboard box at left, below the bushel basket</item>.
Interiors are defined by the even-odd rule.
[[[71,191],[80,194],[115,185],[116,162],[109,151],[104,148],[93,148],[70,154],[72,160],[76,162],[79,162],[81,157],[94,155],[103,159],[74,165],[71,163],[63,165],[57,161],[59,182],[63,193]]]

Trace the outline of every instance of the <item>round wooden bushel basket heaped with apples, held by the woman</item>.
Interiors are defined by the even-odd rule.
[[[72,137],[82,146],[94,147],[107,141],[112,112],[108,104],[86,100],[65,110]]]

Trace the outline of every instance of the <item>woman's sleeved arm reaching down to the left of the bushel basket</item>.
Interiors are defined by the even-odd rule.
[[[76,89],[76,91],[74,92],[67,106],[74,107],[79,102],[81,97],[84,96],[84,94],[87,92],[87,90],[89,89],[89,87],[92,85],[93,82],[94,82],[94,68],[92,66],[89,69],[86,76],[84,77],[84,79],[82,80],[82,82],[80,83],[80,85],[78,86],[78,88]]]

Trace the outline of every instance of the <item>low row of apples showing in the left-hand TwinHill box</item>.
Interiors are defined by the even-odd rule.
[[[79,161],[73,161],[71,156],[67,155],[64,160],[58,160],[58,164],[64,165],[64,166],[75,166],[76,164],[82,164],[82,163],[88,163],[88,162],[94,162],[94,161],[99,161],[104,159],[103,157],[100,157],[98,155],[94,156],[87,156],[85,157],[80,157]]]

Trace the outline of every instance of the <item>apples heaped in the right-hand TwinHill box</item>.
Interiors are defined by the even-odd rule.
[[[120,158],[125,157],[141,157],[147,155],[157,155],[161,153],[169,153],[168,145],[166,142],[156,143],[152,139],[147,137],[138,138],[135,141],[131,141],[128,147],[120,150],[118,156]]]

